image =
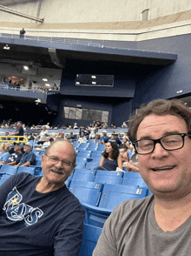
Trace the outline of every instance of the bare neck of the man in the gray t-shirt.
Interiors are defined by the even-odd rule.
[[[191,215],[191,194],[172,200],[155,198],[155,220],[164,232],[172,232]]]

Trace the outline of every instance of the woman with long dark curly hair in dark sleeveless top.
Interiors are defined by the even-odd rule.
[[[108,171],[115,171],[117,167],[122,169],[122,158],[119,156],[118,145],[115,142],[109,142],[106,149],[102,152],[100,166]]]

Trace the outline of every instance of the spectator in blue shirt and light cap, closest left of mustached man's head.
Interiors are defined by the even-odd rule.
[[[24,154],[20,160],[19,166],[30,166],[35,165],[36,155],[32,152],[32,145],[30,142],[27,142],[23,145]]]

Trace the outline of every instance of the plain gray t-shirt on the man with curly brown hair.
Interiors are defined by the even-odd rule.
[[[154,205],[151,195],[116,206],[93,256],[190,256],[191,217],[175,231],[163,232],[155,221]]]

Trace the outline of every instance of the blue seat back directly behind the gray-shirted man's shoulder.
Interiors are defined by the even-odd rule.
[[[143,199],[148,195],[148,188],[105,184],[102,190],[99,207],[113,211],[116,205],[125,200]]]

